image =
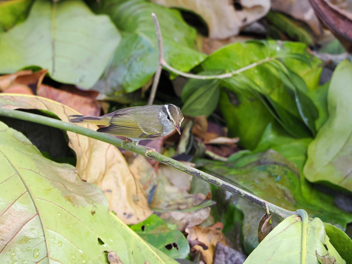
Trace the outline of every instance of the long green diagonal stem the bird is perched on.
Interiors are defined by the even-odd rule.
[[[67,130],[67,131],[78,133],[78,134],[81,134],[81,135],[84,135],[84,136],[87,136],[90,138],[98,139],[98,140],[101,140],[103,142],[106,142],[106,143],[109,143],[109,144],[112,144],[112,145],[115,145],[118,147],[121,147],[121,143],[124,142],[123,140],[115,138],[109,134],[99,133],[94,130],[90,130],[89,128],[81,127],[76,124],[72,124],[72,123],[68,123],[68,122],[63,122],[61,120],[57,120],[54,118],[44,117],[44,116],[38,115],[38,114],[32,114],[32,113],[27,113],[27,112],[18,111],[18,110],[10,110],[10,109],[5,109],[5,108],[0,108],[0,116],[16,118],[16,119],[26,120],[26,121],[30,121],[30,122],[34,122],[34,123],[38,123],[38,124],[42,124],[42,125],[56,127],[56,128],[62,129],[62,130]],[[200,178],[201,180],[206,181],[208,183],[211,183],[215,186],[219,186],[219,187],[229,191],[230,193],[238,195],[238,196],[258,205],[259,207],[265,209],[265,201],[260,199],[259,197],[255,196],[245,190],[242,190],[242,189],[240,189],[230,183],[227,183],[223,180],[220,180],[219,178],[216,178],[210,174],[207,174],[203,171],[200,171],[198,169],[187,166],[179,161],[176,161],[175,159],[166,157],[164,155],[161,155],[161,154],[153,152],[153,151],[149,152],[147,149],[145,149],[145,147],[136,146],[133,143],[124,143],[122,148],[126,149],[126,150],[130,150],[134,153],[138,153],[140,155],[146,156],[148,158],[154,159],[154,160],[156,160],[160,163],[163,163],[165,165],[169,165],[175,169],[186,172],[190,175],[193,175],[197,178]],[[272,203],[267,202],[267,204],[268,204],[268,207],[269,207],[269,210],[271,213],[276,214],[283,219],[287,218],[290,215],[295,214],[295,212],[286,210],[286,209],[281,208],[279,206],[276,206]]]

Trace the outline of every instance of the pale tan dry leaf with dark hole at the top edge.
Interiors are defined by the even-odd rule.
[[[270,10],[270,0],[152,0],[152,2],[193,11],[208,26],[209,37],[226,39],[235,36],[246,25],[264,17]]]

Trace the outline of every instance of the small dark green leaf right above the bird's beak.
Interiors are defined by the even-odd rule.
[[[218,74],[219,71],[202,71],[201,75]],[[184,102],[181,110],[184,115],[209,117],[218,105],[220,96],[219,79],[190,79],[184,86],[181,99]]]

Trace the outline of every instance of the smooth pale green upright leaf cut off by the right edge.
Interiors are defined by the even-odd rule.
[[[329,117],[308,146],[303,173],[311,182],[327,181],[352,190],[352,65],[342,61],[328,91]]]

